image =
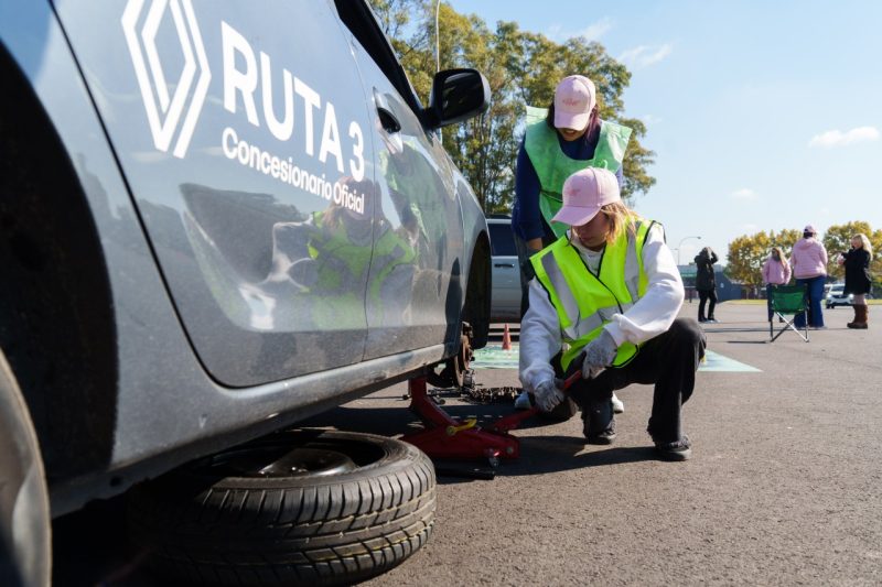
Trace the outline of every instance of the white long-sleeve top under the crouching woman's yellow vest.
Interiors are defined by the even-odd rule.
[[[578,238],[571,241],[596,274],[601,252],[587,249]],[[624,314],[614,314],[604,326],[620,346],[624,341],[638,345],[665,333],[682,305],[680,272],[659,225],[649,229],[643,247],[643,268],[648,278],[646,294]],[[535,391],[542,381],[553,379],[551,359],[560,351],[563,338],[558,312],[537,279],[529,283],[529,300],[530,307],[520,323],[520,382],[527,391]]]

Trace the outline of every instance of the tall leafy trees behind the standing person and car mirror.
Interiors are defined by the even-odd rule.
[[[434,1],[373,0],[372,7],[398,53],[417,95],[428,101],[435,70]],[[581,74],[598,88],[600,116],[633,129],[624,161],[622,196],[633,202],[655,177],[647,173],[655,153],[641,140],[646,126],[624,116],[627,68],[598,42],[584,37],[557,43],[523,31],[515,22],[488,25],[442,3],[438,14],[441,69],[473,67],[486,76],[491,106],[483,116],[443,129],[448,153],[472,184],[485,213],[507,213],[515,194],[515,162],[524,135],[525,106],[548,107],[563,77]]]

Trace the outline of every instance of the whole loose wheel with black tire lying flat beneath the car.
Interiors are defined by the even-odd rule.
[[[434,468],[415,446],[291,431],[137,487],[129,519],[172,580],[348,585],[422,546],[434,511]]]

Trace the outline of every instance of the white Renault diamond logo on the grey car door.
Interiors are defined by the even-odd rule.
[[[190,0],[151,0],[141,21],[143,6],[144,0],[129,0],[122,13],[122,31],[141,88],[153,144],[168,152],[176,134],[172,154],[183,157],[212,80],[205,46]],[[184,61],[176,83],[166,79],[168,72],[163,70],[157,50],[157,33],[166,12],[171,14]]]

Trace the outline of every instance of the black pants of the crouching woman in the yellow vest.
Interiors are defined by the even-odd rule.
[[[692,395],[706,346],[704,333],[695,320],[677,318],[668,331],[645,343],[631,362],[606,369],[594,379],[579,380],[570,388],[570,395],[585,406],[609,401],[613,391],[632,383],[655,383],[646,431],[655,442],[678,441],[682,436],[680,406]]]

